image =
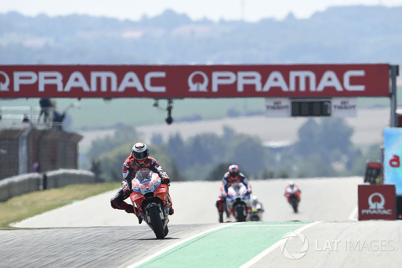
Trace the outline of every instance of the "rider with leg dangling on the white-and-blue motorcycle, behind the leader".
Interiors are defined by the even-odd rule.
[[[223,211],[225,210],[226,216],[229,217],[229,211],[226,204],[226,197],[228,196],[228,188],[232,184],[242,183],[247,188],[247,192],[251,194],[251,185],[248,183],[247,177],[239,171],[238,165],[230,165],[228,172],[222,178],[221,195],[218,197],[216,207],[218,208],[219,222],[223,222]]]

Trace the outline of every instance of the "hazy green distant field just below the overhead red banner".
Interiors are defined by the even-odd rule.
[[[402,86],[398,87],[397,103],[402,103]],[[103,99],[56,99],[57,110],[64,111],[71,103],[77,102],[80,109],[70,108],[66,123],[70,131],[112,128],[117,124],[129,126],[154,125],[164,123],[166,101],[159,101],[159,108],[153,107],[152,99],[114,99],[107,103]],[[0,106],[39,106],[39,99],[0,100]],[[388,98],[358,98],[359,108],[389,107]],[[172,117],[175,122],[183,118],[203,120],[226,117],[228,110],[236,110],[241,115],[265,110],[264,98],[245,99],[181,99],[173,101]]]

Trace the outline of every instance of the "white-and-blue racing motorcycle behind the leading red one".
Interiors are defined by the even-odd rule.
[[[250,194],[244,184],[232,184],[228,188],[226,204],[229,213],[231,213],[238,222],[246,221],[251,210]]]

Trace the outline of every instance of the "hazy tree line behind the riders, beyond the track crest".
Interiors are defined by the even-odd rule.
[[[156,134],[148,147],[173,181],[219,181],[230,164],[261,180],[363,176],[366,161],[380,159],[381,151],[379,144],[358,148],[352,134],[341,118],[310,118],[298,129],[298,140],[281,148],[266,147],[259,138],[230,127],[222,135],[203,133],[184,140],[175,134],[166,142]],[[96,171],[98,181],[121,181],[123,162],[139,141],[135,128],[122,126],[113,137],[92,143],[83,167]]]

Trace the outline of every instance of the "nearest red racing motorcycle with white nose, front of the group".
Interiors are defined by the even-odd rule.
[[[167,195],[168,184],[163,184],[159,175],[148,168],[137,171],[131,181],[131,202],[139,216],[154,231],[156,238],[163,239],[169,232],[169,209],[172,202]]]

